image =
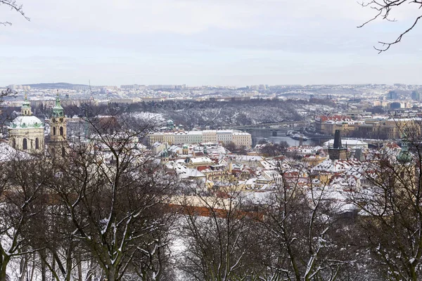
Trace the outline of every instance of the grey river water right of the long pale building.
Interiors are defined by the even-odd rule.
[[[286,136],[286,131],[288,130],[277,130],[277,136],[272,136],[272,131],[269,129],[253,129],[248,130],[248,133],[252,135],[252,147],[262,140],[263,138],[267,138],[267,140],[271,143],[280,143],[281,141],[286,141],[290,146],[298,146],[298,145],[322,145],[328,139],[321,139],[321,140],[308,140],[308,141],[300,141],[294,140],[290,138],[290,136]]]

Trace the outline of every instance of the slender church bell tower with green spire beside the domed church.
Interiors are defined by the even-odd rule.
[[[50,118],[50,143],[51,152],[58,152],[60,155],[65,155],[66,146],[66,118],[65,111],[60,105],[60,98],[56,96],[56,105],[53,107],[53,112]]]

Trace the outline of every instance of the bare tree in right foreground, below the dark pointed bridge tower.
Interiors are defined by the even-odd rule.
[[[338,251],[347,248],[338,235],[338,204],[327,196],[327,185],[312,185],[312,174],[305,185],[298,178],[288,181],[281,166],[280,174],[283,181],[261,204],[264,280],[338,280],[353,259]]]

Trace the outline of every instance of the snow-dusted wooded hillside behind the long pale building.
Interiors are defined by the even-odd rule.
[[[224,126],[239,126],[250,124],[265,124],[274,122],[299,121],[304,119],[300,110],[309,110],[314,106],[313,113],[318,114],[320,105],[335,107],[329,100],[236,100],[228,102],[215,101],[162,101],[141,102],[132,104],[113,104],[124,112],[160,113],[166,119],[173,119],[175,124],[181,124],[186,129],[194,127],[210,127],[219,129]],[[100,105],[105,110],[109,105]],[[68,107],[66,112],[75,115],[90,116],[87,107]],[[96,112],[94,110],[93,112]],[[321,114],[324,110],[321,110]]]

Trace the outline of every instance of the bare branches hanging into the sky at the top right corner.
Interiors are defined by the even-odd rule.
[[[361,5],[363,7],[371,8],[374,11],[376,11],[376,15],[373,16],[373,18],[367,20],[362,25],[359,25],[358,27],[364,27],[369,22],[372,22],[373,20],[381,19],[381,20],[388,20],[388,21],[395,21],[395,18],[390,17],[390,13],[392,11],[395,11],[397,7],[404,6],[406,4],[414,4],[415,8],[422,8],[422,1],[421,0],[371,0],[371,1],[363,1]],[[407,30],[404,30],[394,41],[378,41],[378,44],[381,44],[381,47],[374,46],[373,48],[378,51],[378,53],[382,53],[384,51],[387,51],[392,45],[399,43],[402,41],[402,38],[404,35],[409,33],[411,30],[416,27],[418,24],[418,21],[421,20],[422,15],[419,15],[413,22],[412,25],[410,25]]]

